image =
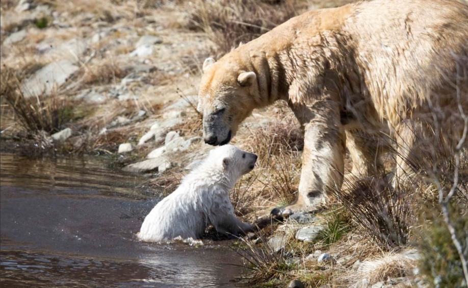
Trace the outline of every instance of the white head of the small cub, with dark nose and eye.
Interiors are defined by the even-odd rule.
[[[257,161],[257,155],[246,152],[232,145],[224,145],[210,152],[213,159],[221,169],[234,178],[239,178],[252,171]]]

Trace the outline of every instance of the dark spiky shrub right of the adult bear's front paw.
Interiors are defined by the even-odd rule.
[[[383,180],[345,180],[332,194],[349,210],[353,220],[388,250],[408,243],[412,224],[412,194],[403,186],[394,189]]]

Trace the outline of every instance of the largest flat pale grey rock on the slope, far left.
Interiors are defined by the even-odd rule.
[[[26,98],[36,97],[42,93],[48,95],[53,90],[54,85],[64,84],[78,69],[79,67],[69,60],[50,63],[25,80],[22,83],[21,91]]]

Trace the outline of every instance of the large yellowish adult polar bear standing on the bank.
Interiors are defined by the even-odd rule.
[[[287,101],[304,128],[301,179],[297,200],[272,213],[304,210],[342,186],[346,144],[353,174],[378,169],[379,149],[362,132],[394,137],[397,178],[420,154],[417,139],[435,133],[433,119],[460,137],[467,57],[468,7],[456,1],[375,0],[309,11],[218,62],[205,60],[198,107],[204,141],[224,145],[254,108]]]

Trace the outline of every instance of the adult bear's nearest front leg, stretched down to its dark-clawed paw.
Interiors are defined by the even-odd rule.
[[[314,209],[328,191],[341,188],[344,175],[346,135],[339,104],[324,99],[290,106],[304,126],[304,151],[298,197],[294,203],[271,211],[279,218]]]

